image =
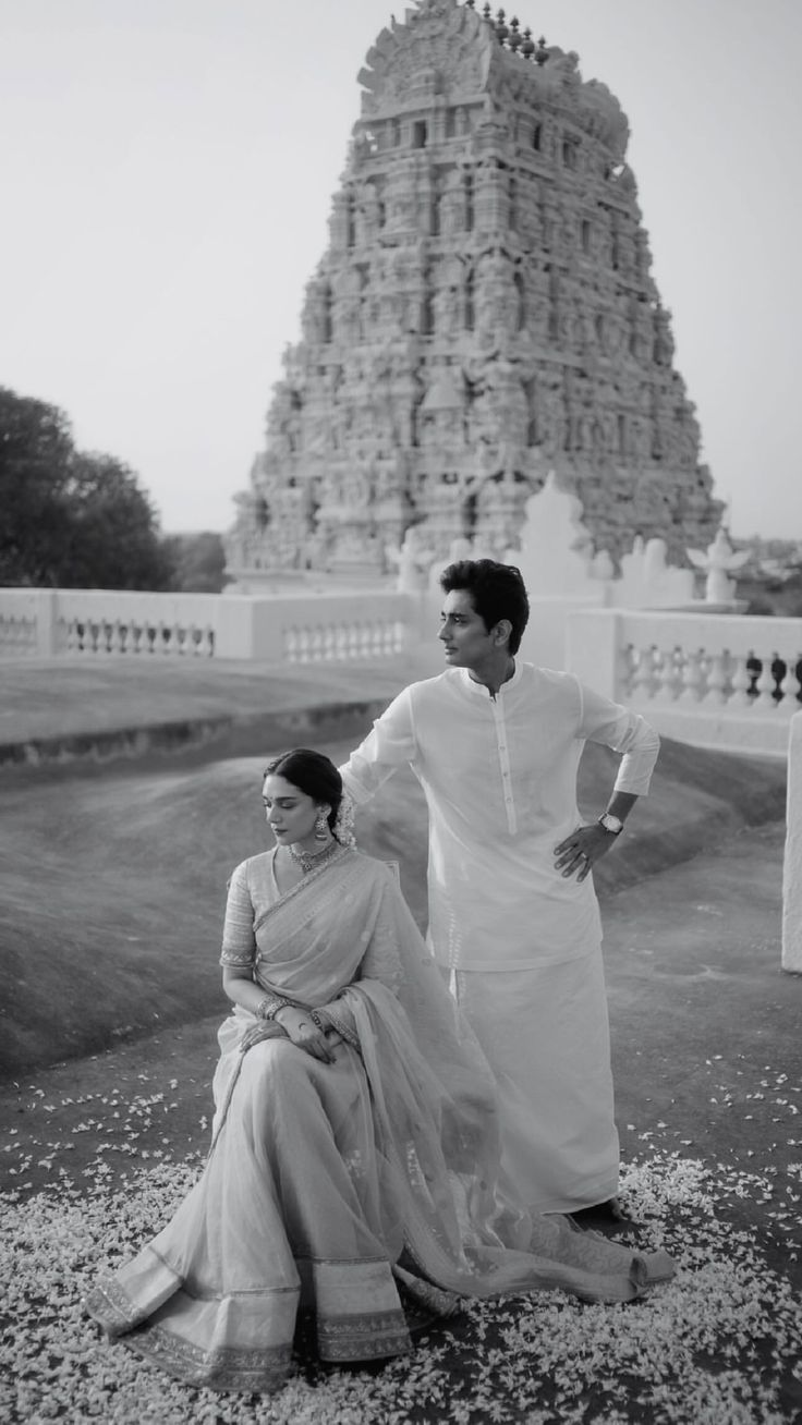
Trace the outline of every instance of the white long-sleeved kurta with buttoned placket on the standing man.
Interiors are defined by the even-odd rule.
[[[405,688],[340,768],[358,805],[403,762],[419,778],[429,805],[429,939],[440,965],[533,969],[598,945],[591,878],[578,882],[554,865],[554,846],[581,821],[587,740],[623,754],[617,791],[648,791],[657,734],[573,674],[516,663],[493,698],[466,668],[449,668]]]

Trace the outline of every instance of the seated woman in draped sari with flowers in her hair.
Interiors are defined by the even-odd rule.
[[[209,1159],[91,1315],[182,1381],[269,1391],[299,1311],[322,1359],[366,1361],[460,1297],[624,1301],[671,1275],[500,1200],[490,1072],[395,876],[353,849],[339,772],[288,752],[262,797],[276,845],[229,884]]]

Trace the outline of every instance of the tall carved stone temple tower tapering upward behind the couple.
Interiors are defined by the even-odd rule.
[[[359,83],[229,574],[382,574],[412,526],[433,557],[464,537],[503,557],[550,470],[597,550],[661,536],[684,563],[722,504],[615,97],[473,0],[420,0]]]

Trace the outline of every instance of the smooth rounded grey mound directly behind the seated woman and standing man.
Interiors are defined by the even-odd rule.
[[[349,744],[350,745],[350,744]],[[349,745],[325,751],[342,761]],[[225,1009],[218,968],[225,882],[269,841],[264,757],[9,788],[0,828],[0,1072],[91,1053]],[[581,805],[604,808],[615,758],[588,747]],[[782,817],[785,768],[664,742],[652,794],[597,872],[613,895],[744,825]],[[363,851],[402,866],[426,922],[426,807],[399,772],[359,817]]]

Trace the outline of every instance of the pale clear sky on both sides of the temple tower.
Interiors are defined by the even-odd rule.
[[[400,0],[0,0],[0,385],[224,530]],[[507,10],[507,16],[516,13]],[[802,539],[802,0],[521,0],[630,120],[735,537]]]

